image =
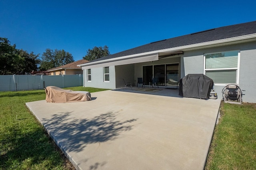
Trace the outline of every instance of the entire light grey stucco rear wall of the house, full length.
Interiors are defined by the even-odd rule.
[[[204,54],[218,53],[224,51],[240,51],[239,62],[239,86],[245,95],[242,97],[243,102],[256,103],[256,42],[239,43],[234,45],[223,45],[212,48],[197,50],[184,50],[184,54],[170,58],[160,59],[158,61],[127,64],[122,66],[110,66],[110,82],[104,82],[103,68],[92,68],[92,81],[87,81],[86,70],[84,70],[84,86],[96,88],[115,89],[124,87],[122,78],[127,82],[137,85],[137,78],[142,77],[142,66],[158,64],[180,64],[180,78],[187,74],[205,74],[204,72]],[[134,75],[134,76],[133,76]],[[223,85],[214,85],[218,98],[222,98]]]

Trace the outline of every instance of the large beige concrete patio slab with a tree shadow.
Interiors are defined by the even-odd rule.
[[[92,99],[26,103],[77,169],[204,169],[220,100],[113,90]]]

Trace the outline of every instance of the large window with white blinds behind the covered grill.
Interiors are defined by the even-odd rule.
[[[238,51],[205,54],[205,75],[215,84],[237,83]]]

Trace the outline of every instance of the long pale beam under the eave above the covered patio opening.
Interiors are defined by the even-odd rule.
[[[134,63],[143,63],[148,61],[156,61],[158,60],[158,53],[153,55],[146,55],[141,57],[131,57],[128,59],[116,59],[115,61],[106,62],[104,63],[104,60],[102,63],[82,66],[82,69],[90,69],[90,68],[97,68],[97,67],[107,67],[107,66],[118,66],[118,65],[124,65],[124,64],[134,64]],[[89,63],[88,63],[89,64]]]

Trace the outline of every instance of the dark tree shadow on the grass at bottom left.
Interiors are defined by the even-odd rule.
[[[0,143],[5,148],[1,149],[0,169],[30,169],[33,166],[51,169],[64,164],[42,127],[28,133],[16,128],[9,129],[8,135]]]

